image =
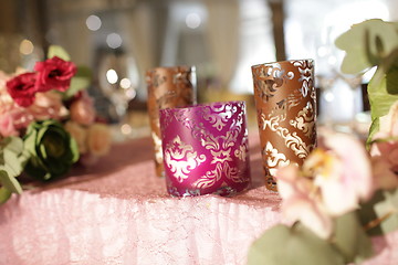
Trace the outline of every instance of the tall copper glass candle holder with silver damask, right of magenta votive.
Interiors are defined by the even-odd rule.
[[[279,167],[301,166],[316,145],[313,60],[252,66],[266,188],[276,191]]]

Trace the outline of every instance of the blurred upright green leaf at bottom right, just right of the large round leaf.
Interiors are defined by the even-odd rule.
[[[371,241],[355,212],[336,220],[334,243],[346,257],[346,263],[362,262],[373,255]]]

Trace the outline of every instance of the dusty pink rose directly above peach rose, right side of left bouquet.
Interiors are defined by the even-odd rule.
[[[93,99],[86,92],[82,92],[81,97],[71,104],[70,112],[71,119],[81,125],[91,125],[95,120]]]

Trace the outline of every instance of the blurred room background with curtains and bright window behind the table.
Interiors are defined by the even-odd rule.
[[[31,70],[51,44],[93,71],[100,114],[125,135],[148,129],[145,72],[195,65],[199,102],[244,99],[251,65],[314,59],[318,121],[368,121],[368,76],[339,72],[336,36],[366,19],[398,20],[397,0],[1,0],[0,70]]]

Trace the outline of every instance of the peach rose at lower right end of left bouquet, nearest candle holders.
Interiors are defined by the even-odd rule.
[[[87,131],[88,150],[94,156],[104,156],[109,151],[112,136],[108,127],[103,124],[93,124]]]

